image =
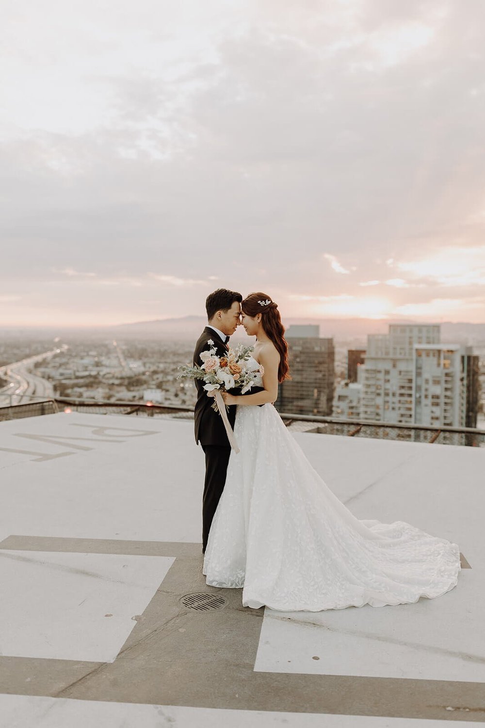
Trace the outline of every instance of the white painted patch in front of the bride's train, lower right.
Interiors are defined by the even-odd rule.
[[[265,609],[254,670],[485,682],[483,569],[415,604],[274,612]]]

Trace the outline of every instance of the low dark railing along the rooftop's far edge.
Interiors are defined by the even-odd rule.
[[[40,402],[0,407],[0,421],[36,417],[57,412],[92,412],[95,414],[124,414],[163,419],[193,419],[189,406],[159,405],[146,402],[111,402],[82,400],[71,397],[52,397]],[[286,427],[300,432],[324,435],[344,435],[351,438],[378,438],[441,445],[485,447],[485,430],[473,427],[440,427],[417,424],[389,424],[363,419],[335,419],[326,416],[280,413]],[[0,430],[1,432],[1,430]]]

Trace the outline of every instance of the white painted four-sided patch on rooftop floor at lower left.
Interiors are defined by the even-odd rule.
[[[113,662],[173,561],[0,550],[1,654]]]

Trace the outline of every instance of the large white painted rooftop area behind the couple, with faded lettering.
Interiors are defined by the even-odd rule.
[[[471,566],[485,561],[485,448],[294,437],[358,518],[409,521],[458,543]],[[39,462],[1,448],[67,454]],[[192,422],[83,413],[1,422],[0,469],[0,538],[201,542],[204,453]]]

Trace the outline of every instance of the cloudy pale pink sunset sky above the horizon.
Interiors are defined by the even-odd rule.
[[[6,0],[0,325],[485,322],[484,0]]]

